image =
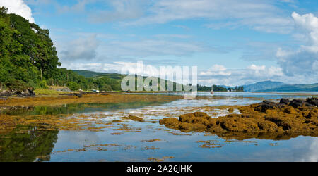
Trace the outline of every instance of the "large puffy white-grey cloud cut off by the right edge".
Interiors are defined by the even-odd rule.
[[[276,52],[278,64],[288,76],[310,75],[317,77],[318,18],[312,13],[299,15],[295,12],[292,17],[298,32],[298,39],[302,39],[305,44],[293,50],[279,48]]]

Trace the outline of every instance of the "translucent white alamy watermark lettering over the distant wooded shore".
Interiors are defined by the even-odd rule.
[[[185,99],[194,99],[197,94],[197,67],[143,65],[143,61],[124,66],[122,91],[184,92]]]

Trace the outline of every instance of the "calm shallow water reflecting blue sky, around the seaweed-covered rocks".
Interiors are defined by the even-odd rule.
[[[156,96],[155,94],[153,96]],[[104,131],[37,130],[33,126],[18,126],[12,132],[0,134],[0,161],[317,161],[318,138],[296,137],[288,140],[245,139],[225,140],[204,132],[179,132],[159,125],[165,117],[204,111],[206,106],[247,105],[281,98],[306,98],[318,92],[271,93],[199,93],[196,99],[179,99],[157,103],[91,103],[61,107],[28,107],[2,110],[8,115],[81,115],[99,116],[96,126],[122,120],[125,115],[145,118],[145,122],[122,120]],[[206,111],[205,111],[206,112]],[[217,118],[228,112],[213,109],[206,112]],[[238,113],[235,109],[234,113]],[[95,119],[93,119],[95,120]],[[126,127],[126,129],[121,127]],[[23,132],[19,132],[23,130]],[[144,140],[160,139],[155,142]],[[211,140],[218,148],[202,148],[198,141]],[[173,157],[173,158],[172,158]]]

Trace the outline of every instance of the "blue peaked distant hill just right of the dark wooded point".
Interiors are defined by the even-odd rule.
[[[288,84],[285,84],[283,82],[273,82],[273,81],[263,81],[263,82],[257,82],[254,84],[248,84],[248,85],[243,85],[244,90],[247,92],[257,92],[261,90],[266,90],[266,89],[275,89],[277,87],[282,87]]]

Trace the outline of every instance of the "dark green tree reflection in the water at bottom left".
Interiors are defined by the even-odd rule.
[[[49,161],[58,133],[18,125],[8,134],[0,134],[0,161]]]

